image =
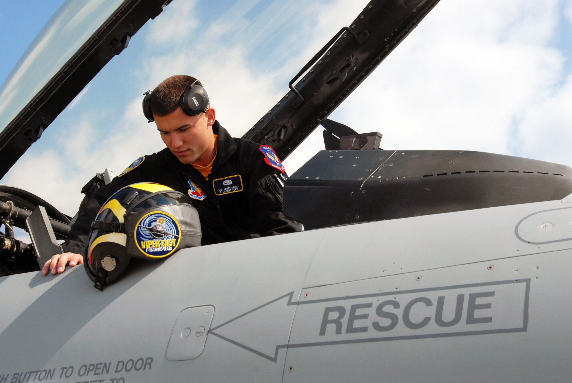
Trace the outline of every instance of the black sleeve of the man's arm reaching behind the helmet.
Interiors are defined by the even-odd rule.
[[[105,201],[107,201],[113,193],[117,192],[117,190],[136,182],[164,183],[161,177],[162,172],[156,171],[157,166],[153,159],[145,157],[145,160],[145,163],[141,163],[141,166],[137,166],[128,171],[128,173],[125,173],[125,170],[129,169],[128,167],[128,169],[124,170],[125,174],[118,175],[113,178],[113,181],[108,185],[102,186],[93,192],[87,204],[81,206],[77,220],[70,228],[69,234],[67,234],[65,240],[66,252],[84,254],[85,242],[92,229],[92,222],[95,220],[101,206],[103,206]]]

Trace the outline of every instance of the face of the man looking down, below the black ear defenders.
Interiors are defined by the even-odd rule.
[[[212,112],[211,112],[212,111]],[[206,162],[208,165],[212,158],[215,138],[212,126],[215,122],[214,110],[190,116],[178,107],[172,113],[163,117],[154,116],[157,130],[161,139],[169,150],[176,155],[182,163]]]

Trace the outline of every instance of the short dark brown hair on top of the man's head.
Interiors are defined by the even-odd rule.
[[[196,78],[184,74],[176,74],[162,81],[151,93],[151,112],[159,117],[173,113],[180,106],[181,94],[195,81],[197,85],[202,85]]]

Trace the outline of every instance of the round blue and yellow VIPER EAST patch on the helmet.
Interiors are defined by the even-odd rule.
[[[181,227],[175,217],[165,212],[151,212],[135,226],[135,244],[146,257],[163,258],[177,250]]]

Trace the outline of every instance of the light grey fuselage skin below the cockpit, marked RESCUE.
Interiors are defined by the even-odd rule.
[[[570,381],[560,193],[181,249],[103,292],[82,267],[0,277],[0,383]]]

